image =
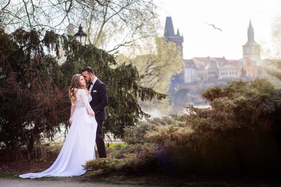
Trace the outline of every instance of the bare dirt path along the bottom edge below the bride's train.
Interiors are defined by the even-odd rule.
[[[102,187],[146,187],[146,185],[112,185],[107,183],[95,183],[87,181],[77,181],[74,177],[68,177],[67,179],[61,180],[34,180],[34,179],[5,179],[0,178],[0,187],[92,187],[92,186],[102,186]],[[153,186],[149,186],[153,187]],[[155,186],[156,187],[156,186]],[[157,186],[159,187],[159,186]]]

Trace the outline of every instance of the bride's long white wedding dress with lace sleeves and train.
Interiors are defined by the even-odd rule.
[[[86,161],[96,159],[95,141],[97,122],[95,117],[87,114],[91,110],[89,102],[91,94],[86,96],[86,90],[78,89],[76,92],[75,110],[72,115],[72,124],[67,138],[53,165],[40,173],[27,173],[19,175],[21,178],[40,177],[72,177],[86,172],[81,165]]]

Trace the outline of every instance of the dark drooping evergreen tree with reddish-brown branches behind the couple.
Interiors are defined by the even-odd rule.
[[[0,148],[27,144],[32,150],[42,138],[52,139],[61,125],[69,127],[68,86],[73,74],[81,73],[85,66],[91,66],[107,85],[104,132],[115,137],[123,136],[123,127],[134,126],[148,116],[138,100],[166,97],[138,86],[139,74],[132,64],[117,65],[113,55],[94,45],[82,45],[71,35],[45,33],[19,28],[7,34],[0,27]],[[67,57],[61,66],[51,55],[55,52],[59,56],[59,41]]]

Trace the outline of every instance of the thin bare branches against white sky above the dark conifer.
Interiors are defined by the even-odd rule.
[[[87,42],[108,52],[134,47],[159,28],[153,0],[1,0],[0,22],[7,30],[53,29],[74,35],[79,24]],[[77,30],[76,30],[77,29]]]

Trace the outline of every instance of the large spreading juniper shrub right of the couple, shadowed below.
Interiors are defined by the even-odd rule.
[[[127,145],[102,160],[111,163],[110,167],[99,159],[86,162],[85,167],[123,172],[279,170],[281,89],[268,79],[257,78],[229,81],[224,88],[215,86],[201,94],[210,102],[209,108],[188,105],[182,116],[148,118],[128,127]],[[132,163],[141,163],[141,167]]]

